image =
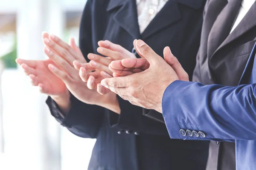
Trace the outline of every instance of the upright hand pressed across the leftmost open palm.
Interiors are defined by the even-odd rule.
[[[116,94],[111,92],[102,96],[96,89],[90,90],[87,88],[87,83],[80,79],[79,71],[73,67],[73,62],[75,59],[81,59],[81,54],[54,35],[50,35],[49,39],[44,38],[44,43],[47,45],[44,48],[45,54],[58,66],[50,64],[48,66],[49,70],[65,83],[67,89],[77,99],[90,105],[99,105],[120,113]],[[96,76],[97,73],[95,73],[82,72],[81,74]]]

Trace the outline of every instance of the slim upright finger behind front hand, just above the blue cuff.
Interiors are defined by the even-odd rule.
[[[186,71],[181,66],[178,59],[172,54],[171,49],[169,47],[164,48],[163,56],[166,62],[172,67],[172,69],[176,72],[179,80],[189,81],[189,76]]]

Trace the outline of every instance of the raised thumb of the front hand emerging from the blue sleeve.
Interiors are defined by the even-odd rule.
[[[137,40],[136,43],[137,51],[148,60],[150,64],[153,64],[156,62],[156,60],[162,58],[159,55],[157,55],[152,48],[150,48],[143,40]]]

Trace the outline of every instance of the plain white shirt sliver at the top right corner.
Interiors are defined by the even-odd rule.
[[[236,21],[233,25],[233,28],[231,29],[230,33],[234,31],[234,29],[238,26],[238,24],[241,22],[241,20],[244,18],[244,16],[247,14],[249,9],[253,6],[253,3],[255,3],[255,0],[243,0],[241,3],[241,7],[239,10],[239,14],[236,18]]]

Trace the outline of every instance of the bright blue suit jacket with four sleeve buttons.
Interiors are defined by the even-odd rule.
[[[162,107],[171,138],[236,142],[236,169],[256,170],[255,57],[256,44],[237,87],[183,81],[169,85]]]

